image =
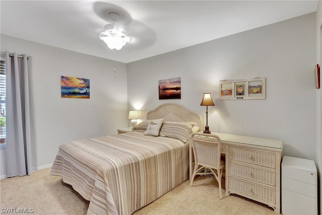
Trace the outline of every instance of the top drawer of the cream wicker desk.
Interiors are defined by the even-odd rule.
[[[228,159],[276,169],[276,155],[272,153],[228,147]]]

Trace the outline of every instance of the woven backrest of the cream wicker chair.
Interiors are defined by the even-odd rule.
[[[194,133],[191,136],[195,162],[201,166],[219,169],[221,141],[219,136],[207,133]]]

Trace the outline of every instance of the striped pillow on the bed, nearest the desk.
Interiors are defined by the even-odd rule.
[[[160,136],[168,136],[187,142],[193,125],[189,122],[168,122],[166,121],[160,129]]]

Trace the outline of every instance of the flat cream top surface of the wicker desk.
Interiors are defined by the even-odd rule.
[[[211,132],[211,134],[215,134],[219,136],[222,142],[235,142],[238,144],[246,144],[246,145],[254,145],[260,147],[269,147],[274,149],[282,149],[283,148],[283,140],[280,139],[268,139],[268,138],[260,138],[260,137],[252,137],[252,136],[241,136],[229,133],[215,133]]]

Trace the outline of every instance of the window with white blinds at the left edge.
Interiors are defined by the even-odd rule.
[[[0,149],[6,147],[6,61],[0,59]]]

